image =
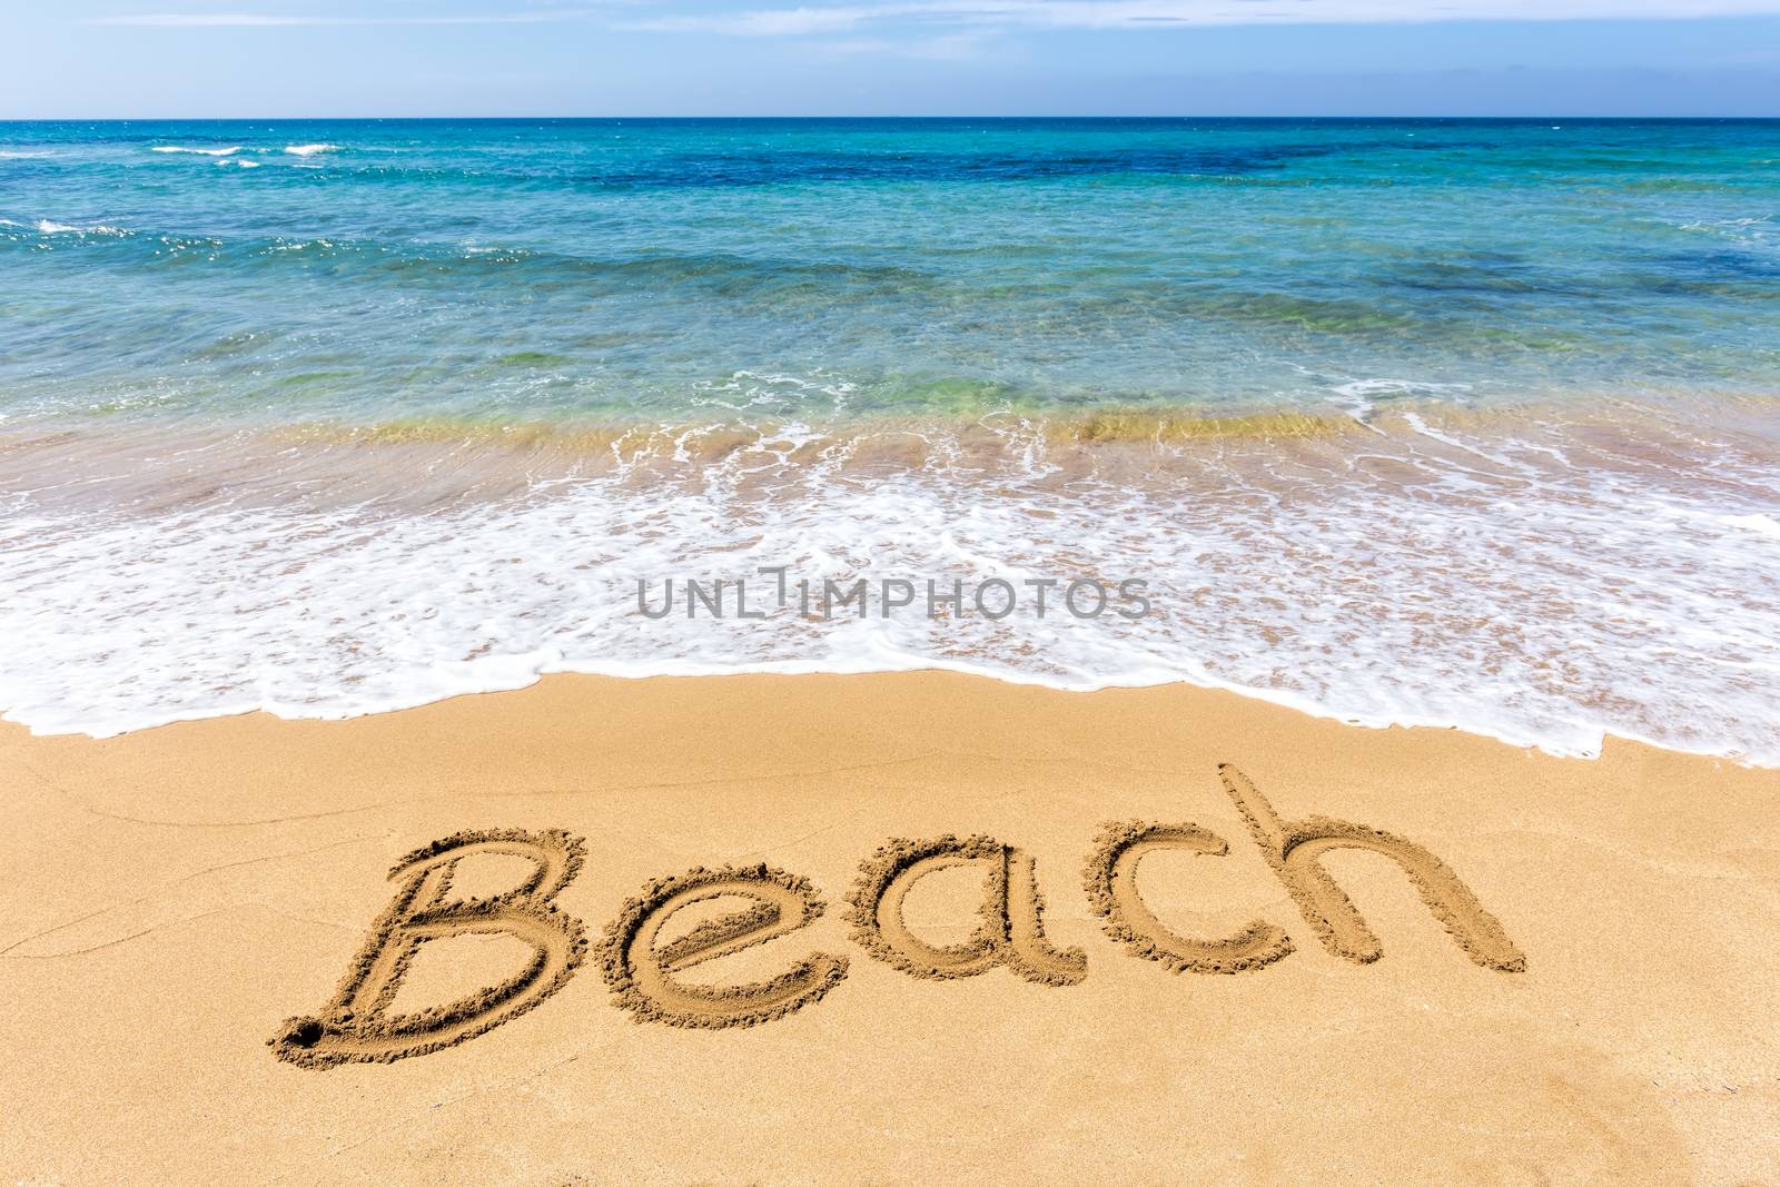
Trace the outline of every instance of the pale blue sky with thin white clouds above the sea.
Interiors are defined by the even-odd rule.
[[[1780,116],[1780,0],[0,0],[0,117]]]

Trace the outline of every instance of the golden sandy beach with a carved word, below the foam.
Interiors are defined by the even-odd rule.
[[[1780,1182],[1775,771],[552,676],[0,795],[7,1182]]]

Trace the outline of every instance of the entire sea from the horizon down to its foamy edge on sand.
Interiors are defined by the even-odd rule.
[[[1780,762],[1780,121],[0,125],[0,710],[1194,680]],[[1139,577],[1134,623],[639,580]]]

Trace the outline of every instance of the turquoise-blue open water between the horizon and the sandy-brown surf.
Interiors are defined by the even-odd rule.
[[[1773,121],[75,123],[0,153],[12,418],[653,418],[735,372],[822,413],[840,383],[977,413],[1780,379]]]

